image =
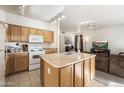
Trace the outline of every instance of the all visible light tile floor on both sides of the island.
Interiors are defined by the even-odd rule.
[[[6,87],[41,87],[40,70],[23,72],[6,77]],[[87,87],[124,87],[124,78],[96,71],[96,79]]]

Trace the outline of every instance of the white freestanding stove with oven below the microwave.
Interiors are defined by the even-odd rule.
[[[40,55],[45,54],[41,44],[29,45],[29,70],[40,68]]]

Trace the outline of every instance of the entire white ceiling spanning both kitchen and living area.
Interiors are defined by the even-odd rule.
[[[1,5],[0,9],[19,14],[18,5]],[[24,16],[49,21],[59,13],[63,13],[66,19],[61,22],[62,31],[77,31],[80,22],[92,21],[95,29],[110,26],[124,25],[124,5],[26,5]],[[89,29],[89,25],[81,26]]]

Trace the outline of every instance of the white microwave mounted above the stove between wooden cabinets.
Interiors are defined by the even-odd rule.
[[[29,35],[29,42],[30,43],[43,43],[44,42],[44,36]]]

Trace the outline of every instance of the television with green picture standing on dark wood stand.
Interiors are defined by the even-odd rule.
[[[98,50],[107,50],[108,49],[107,41],[95,41],[92,44],[93,44],[94,49],[98,49]]]

